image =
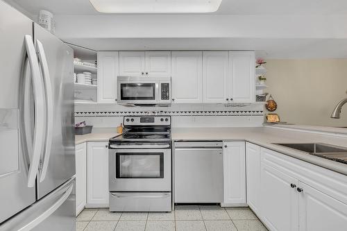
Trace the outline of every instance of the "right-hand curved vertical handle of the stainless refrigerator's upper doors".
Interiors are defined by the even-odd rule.
[[[40,176],[40,182],[44,181],[46,177],[47,168],[49,164],[49,157],[51,155],[51,145],[53,139],[53,93],[51,85],[51,77],[49,76],[49,68],[44,53],[44,47],[40,40],[36,40],[37,55],[40,61],[42,70],[45,96],[46,96],[46,142],[44,146],[43,166]]]

